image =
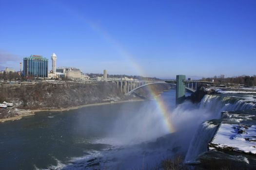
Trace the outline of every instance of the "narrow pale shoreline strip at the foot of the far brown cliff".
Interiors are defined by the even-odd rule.
[[[23,117],[33,116],[33,115],[35,115],[36,112],[44,112],[44,111],[48,111],[48,112],[62,112],[62,111],[80,109],[80,108],[89,107],[89,106],[98,106],[98,105],[106,105],[106,104],[117,104],[117,103],[123,103],[123,102],[139,102],[139,101],[145,101],[145,100],[144,99],[136,99],[136,100],[126,100],[126,101],[99,102],[99,103],[83,104],[83,105],[79,105],[79,106],[72,106],[72,107],[58,108],[58,109],[35,109],[35,110],[30,110],[31,113],[29,113],[29,114],[18,115],[18,116],[14,116],[14,117],[11,117],[11,118],[0,119],[0,123],[3,123],[5,121],[20,120]]]

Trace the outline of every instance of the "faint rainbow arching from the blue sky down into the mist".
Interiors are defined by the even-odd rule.
[[[62,8],[69,12],[71,15],[77,17],[80,19],[80,21],[84,22],[86,25],[88,25],[93,31],[97,32],[100,34],[107,42],[111,43],[113,47],[120,53],[120,56],[123,57],[124,60],[126,60],[127,64],[132,66],[132,69],[135,69],[138,75],[146,77],[143,69],[138,65],[138,63],[134,60],[134,57],[124,48],[121,46],[120,43],[118,43],[114,38],[110,36],[110,34],[107,33],[107,31],[103,30],[100,26],[97,24],[89,21],[86,19],[84,16],[79,14],[78,11],[71,9],[69,6],[66,6],[64,4],[61,4]],[[170,112],[168,110],[168,107],[164,103],[163,99],[161,96],[157,96],[156,92],[152,88],[151,85],[146,86],[151,94],[152,98],[155,98],[155,102],[158,107],[158,111],[162,114],[162,117],[164,119],[166,128],[170,133],[175,132],[175,128],[172,125],[172,121],[170,119]]]

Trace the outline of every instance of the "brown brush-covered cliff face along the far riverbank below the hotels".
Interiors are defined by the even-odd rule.
[[[156,94],[170,87],[160,84],[151,86]],[[2,85],[0,86],[0,102],[13,102],[23,109],[65,108],[90,103],[145,99],[148,98],[149,91],[147,87],[142,87],[136,93],[138,95],[125,96],[117,88],[116,83],[111,82]]]

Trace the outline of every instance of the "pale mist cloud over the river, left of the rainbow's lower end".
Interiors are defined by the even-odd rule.
[[[124,108],[128,109],[128,108]],[[155,102],[145,102],[138,114],[120,114],[110,136],[120,144],[137,144],[168,134],[165,119]]]

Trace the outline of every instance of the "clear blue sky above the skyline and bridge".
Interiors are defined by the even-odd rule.
[[[1,68],[55,52],[85,73],[256,74],[256,0],[0,0],[0,16]]]

